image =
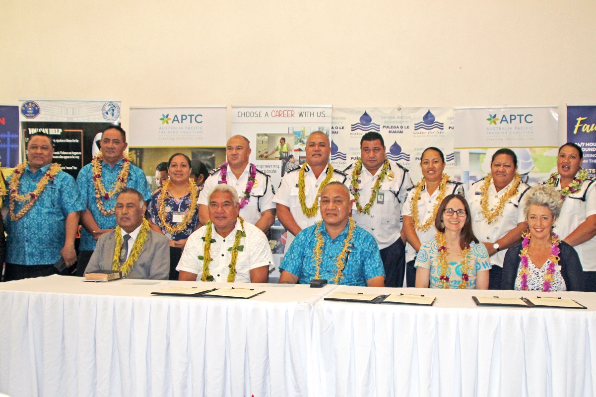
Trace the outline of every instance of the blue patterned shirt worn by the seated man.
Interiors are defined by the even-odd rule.
[[[331,278],[337,274],[337,256],[342,252],[348,228],[349,223],[336,238],[331,238],[324,223],[321,224],[320,230],[324,245],[319,274],[321,278],[330,282]],[[299,277],[299,284],[308,284],[315,278],[314,250],[317,240],[315,230],[316,225],[312,225],[300,231],[281,261],[280,269]],[[385,270],[377,242],[369,232],[361,227],[356,226],[354,230],[352,247],[347,257],[343,278],[340,278],[339,284],[366,286],[368,279],[377,276],[384,277]]]

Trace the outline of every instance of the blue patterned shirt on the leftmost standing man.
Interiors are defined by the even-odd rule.
[[[36,189],[39,180],[45,175],[51,164],[35,173],[27,164],[18,187],[19,194],[26,194]],[[8,178],[7,185],[13,175]],[[8,206],[8,197],[5,205]],[[23,208],[23,203],[15,202],[14,213]],[[66,238],[66,217],[69,213],[85,209],[79,197],[75,178],[64,171],[48,181],[33,207],[18,221],[12,221],[10,215],[4,220],[7,232],[6,262],[17,265],[51,265],[60,259],[60,250]]]

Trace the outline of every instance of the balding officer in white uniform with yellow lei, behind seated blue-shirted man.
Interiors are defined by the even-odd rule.
[[[322,188],[331,181],[348,186],[346,174],[334,169],[329,163],[330,154],[331,145],[327,134],[322,131],[311,132],[306,140],[306,163],[288,170],[281,179],[273,202],[277,203],[277,218],[289,232],[285,242],[286,249],[302,229],[321,220],[318,201]],[[300,196],[303,197],[303,203],[300,203]]]

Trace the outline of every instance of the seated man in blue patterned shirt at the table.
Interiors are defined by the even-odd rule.
[[[322,221],[303,229],[284,255],[280,284],[323,279],[347,286],[384,287],[385,271],[374,237],[356,226],[347,187],[330,182],[321,192]]]

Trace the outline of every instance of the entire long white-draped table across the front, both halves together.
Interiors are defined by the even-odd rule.
[[[517,291],[250,284],[249,300],[152,296],[181,281],[0,284],[0,392],[20,396],[592,396],[588,309],[479,308]],[[229,287],[225,283],[209,283]],[[246,287],[247,285],[238,285]],[[420,293],[432,307],[323,300]]]

